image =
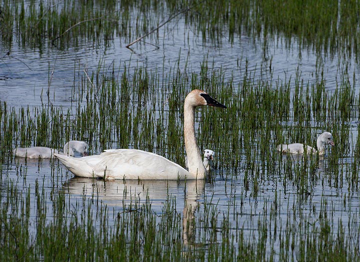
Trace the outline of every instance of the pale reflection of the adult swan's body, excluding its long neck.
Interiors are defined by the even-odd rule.
[[[170,196],[176,197],[176,205],[196,205],[203,197],[203,179],[174,180],[102,180],[73,177],[63,184],[65,192],[71,195],[96,196],[107,205],[130,203],[134,199],[144,202],[146,197],[152,206],[162,206]]]

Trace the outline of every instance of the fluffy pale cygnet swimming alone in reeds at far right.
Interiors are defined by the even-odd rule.
[[[330,132],[323,132],[317,137],[316,145],[317,150],[313,148],[312,146],[305,145],[307,153],[314,154],[318,152],[319,154],[324,154],[325,144],[334,145],[334,142],[332,140],[332,135]],[[304,145],[302,143],[290,143],[290,144],[279,144],[277,146],[277,151],[283,152],[283,153],[303,153],[304,152]]]

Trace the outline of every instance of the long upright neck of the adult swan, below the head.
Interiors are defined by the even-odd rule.
[[[185,150],[188,159],[188,170],[197,178],[205,177],[206,169],[203,165],[200,149],[195,137],[195,107],[189,102],[184,103],[184,140]]]

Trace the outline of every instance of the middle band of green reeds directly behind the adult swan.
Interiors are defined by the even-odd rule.
[[[97,153],[131,147],[183,163],[182,103],[188,92],[187,74],[171,69],[168,75],[173,78],[165,78],[159,91],[157,71],[124,67],[122,73],[114,69],[100,73],[101,67],[90,78],[81,76],[73,87],[77,102],[68,109],[49,105],[21,107],[16,112],[1,104],[2,155],[13,144],[61,148],[65,141],[78,139],[87,141]],[[221,161],[215,167],[220,173],[223,168],[235,173],[248,170],[264,180],[264,174],[277,173],[273,152],[278,143],[304,141],[316,146],[317,135],[324,130],[332,132],[336,143],[331,148],[330,168],[338,169],[343,155],[357,152],[357,143],[349,143],[348,121],[358,117],[358,98],[349,81],[325,93],[323,79],[310,84],[297,75],[292,91],[291,80],[273,85],[244,75],[240,83],[234,83],[232,78],[224,81],[223,75],[221,69],[212,70],[205,63],[200,74],[191,75],[193,87],[208,89],[228,107],[204,107],[196,113],[199,147],[218,149],[216,157]]]

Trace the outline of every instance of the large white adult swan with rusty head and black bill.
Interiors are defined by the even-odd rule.
[[[205,91],[192,90],[184,102],[184,140],[189,170],[163,156],[136,149],[109,149],[98,155],[73,158],[54,154],[73,174],[108,179],[203,179],[207,172],[196,144],[194,111],[196,106],[226,108]]]

